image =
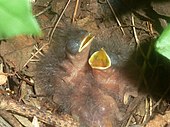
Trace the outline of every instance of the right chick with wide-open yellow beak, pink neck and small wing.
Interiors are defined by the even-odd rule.
[[[120,102],[125,102],[125,94],[136,97],[137,90],[133,86],[136,82],[131,79],[133,76],[128,77],[125,68],[114,68],[112,63],[115,63],[117,58],[114,58],[114,53],[110,53],[110,56],[104,48],[91,55],[88,63],[92,68],[93,77],[102,90]]]

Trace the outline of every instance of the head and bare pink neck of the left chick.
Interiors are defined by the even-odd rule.
[[[89,50],[94,36],[87,31],[81,31],[79,40],[69,40],[66,44],[67,59],[62,63],[67,70],[67,76],[63,77],[67,83],[75,84],[82,79],[87,70]],[[69,75],[69,76],[68,76]]]

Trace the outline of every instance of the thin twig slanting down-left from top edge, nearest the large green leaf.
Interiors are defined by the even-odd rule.
[[[63,17],[63,14],[64,14],[64,12],[66,11],[66,9],[67,9],[70,1],[71,1],[71,0],[68,0],[66,6],[65,6],[65,8],[64,8],[64,10],[62,11],[60,17],[58,18],[58,20],[54,21],[54,24],[55,24],[55,25],[54,25],[54,28],[53,28],[52,30],[50,30],[50,32],[49,32],[49,36],[50,36],[50,37],[49,37],[49,42],[51,42],[52,37],[53,37],[53,35],[54,35],[54,31],[56,30],[56,28],[57,28],[57,26],[58,26],[58,23],[60,22],[61,18]]]

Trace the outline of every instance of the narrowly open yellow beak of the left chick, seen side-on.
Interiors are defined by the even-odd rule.
[[[87,36],[85,36],[80,44],[78,52],[81,52],[83,49],[85,49],[94,39],[94,36],[89,33]]]

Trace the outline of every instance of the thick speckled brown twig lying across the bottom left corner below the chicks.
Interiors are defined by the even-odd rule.
[[[50,112],[39,110],[36,107],[21,104],[9,96],[0,96],[0,109],[11,111],[28,118],[36,116],[40,121],[57,127],[78,127],[79,123],[69,115],[53,115]]]

